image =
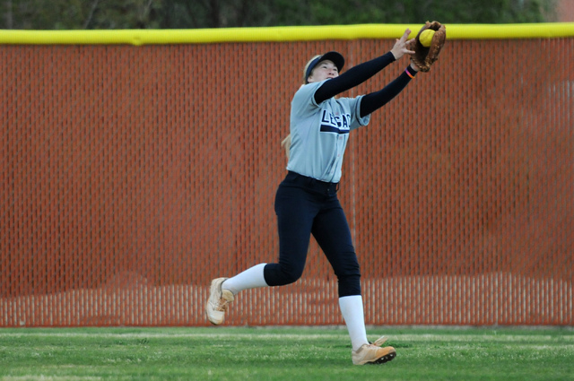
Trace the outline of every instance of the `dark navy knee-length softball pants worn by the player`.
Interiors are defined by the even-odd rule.
[[[361,270],[337,189],[338,184],[295,172],[287,174],[275,195],[279,263],[265,266],[269,286],[282,286],[300,278],[313,234],[335,271],[339,297],[361,295]]]

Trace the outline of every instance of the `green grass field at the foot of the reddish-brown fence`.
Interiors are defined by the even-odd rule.
[[[369,333],[396,359],[353,366],[342,327],[0,329],[0,380],[574,380],[571,328]]]

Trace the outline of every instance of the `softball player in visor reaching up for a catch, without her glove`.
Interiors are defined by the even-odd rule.
[[[367,340],[360,266],[336,193],[349,133],[367,126],[370,114],[402,91],[418,69],[413,64],[407,66],[380,91],[356,98],[335,96],[367,81],[404,54],[413,54],[405,46],[410,33],[405,30],[387,54],[341,75],[344,57],[334,51],[313,57],[305,66],[304,84],[291,101],[288,173],[275,195],[279,261],[257,264],[231,278],[214,279],[205,307],[213,325],[222,324],[229,303],[239,291],[282,286],[300,279],[312,234],[338,280],[339,306],[351,336],[353,364],[383,363],[396,356],[393,347],[380,347],[384,337],[372,344]]]

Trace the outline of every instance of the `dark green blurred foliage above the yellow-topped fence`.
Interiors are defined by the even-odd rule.
[[[557,0],[2,0],[0,28],[196,29],[547,22]]]

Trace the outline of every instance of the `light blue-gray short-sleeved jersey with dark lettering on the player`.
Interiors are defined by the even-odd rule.
[[[315,91],[322,83],[306,84],[293,96],[287,169],[309,178],[338,183],[349,132],[367,126],[370,115],[360,117],[362,95],[331,98],[317,105]]]

